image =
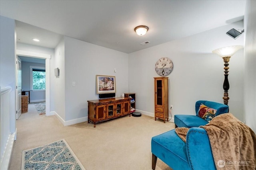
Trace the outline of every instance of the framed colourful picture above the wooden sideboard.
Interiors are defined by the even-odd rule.
[[[97,94],[116,93],[116,77],[96,75]]]

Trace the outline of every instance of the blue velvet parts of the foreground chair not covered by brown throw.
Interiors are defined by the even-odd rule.
[[[216,170],[212,149],[206,131],[192,127],[186,136],[186,143],[175,130],[152,137],[152,169],[160,158],[173,170]]]

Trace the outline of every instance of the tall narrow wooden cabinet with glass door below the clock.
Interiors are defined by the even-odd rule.
[[[154,77],[155,120],[168,121],[168,77]]]

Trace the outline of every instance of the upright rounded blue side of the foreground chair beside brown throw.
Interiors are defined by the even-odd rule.
[[[192,170],[216,170],[208,134],[205,129],[192,127],[186,137],[187,156]]]

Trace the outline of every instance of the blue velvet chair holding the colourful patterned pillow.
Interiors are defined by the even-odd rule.
[[[199,127],[201,125],[206,125],[208,121],[202,119],[198,116],[198,109],[201,104],[208,106],[212,109],[216,109],[215,116],[222,113],[228,113],[228,105],[211,102],[207,100],[199,100],[196,102],[196,115],[174,115],[175,127]]]

